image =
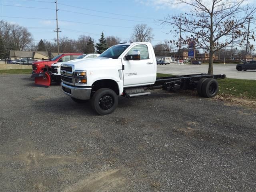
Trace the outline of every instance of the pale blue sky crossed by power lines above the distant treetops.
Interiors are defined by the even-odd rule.
[[[27,27],[33,35],[34,42],[56,38],[56,32],[53,32],[56,30],[55,0],[0,2],[0,19]],[[253,3],[256,0],[249,2]],[[100,33],[104,31],[105,36],[118,36],[122,42],[126,42],[131,37],[133,27],[143,23],[153,28],[153,45],[164,42],[165,39],[173,39],[170,34],[166,34],[170,28],[161,26],[155,20],[163,19],[167,14],[188,11],[184,6],[174,6],[166,0],[58,0],[58,9],[59,28],[62,31],[60,37],[77,39],[79,35],[85,34],[98,42]]]

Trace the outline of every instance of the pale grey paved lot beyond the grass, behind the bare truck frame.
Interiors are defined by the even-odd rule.
[[[208,72],[208,65],[157,65],[157,72],[174,75],[200,74]],[[226,74],[228,78],[256,80],[256,70],[238,71],[236,64],[214,64],[213,73]]]

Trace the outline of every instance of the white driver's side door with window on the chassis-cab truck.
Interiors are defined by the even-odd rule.
[[[151,50],[146,44],[135,45],[128,54],[134,50],[140,51],[140,60],[126,60],[122,58],[124,86],[136,86],[138,84],[154,83],[154,59],[150,54]],[[128,55],[126,54],[126,55]]]

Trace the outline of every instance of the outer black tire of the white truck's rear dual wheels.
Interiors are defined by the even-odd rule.
[[[213,78],[209,78],[202,84],[202,95],[206,98],[212,98],[216,96],[219,90],[218,81]]]

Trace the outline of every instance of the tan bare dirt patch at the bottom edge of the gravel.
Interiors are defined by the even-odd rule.
[[[124,191],[126,170],[114,169],[92,174],[62,192],[110,192]]]

